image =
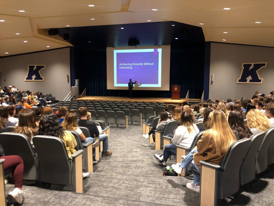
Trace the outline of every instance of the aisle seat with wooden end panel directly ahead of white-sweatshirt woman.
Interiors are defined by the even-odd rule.
[[[168,134],[172,134],[173,130],[176,128],[177,121],[169,121],[167,122],[163,132],[155,130],[155,150],[160,150],[163,146],[163,136],[167,136]]]

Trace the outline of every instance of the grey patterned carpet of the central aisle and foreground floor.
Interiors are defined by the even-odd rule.
[[[120,125],[119,125],[120,126]],[[111,127],[109,150],[112,156],[100,157],[93,173],[83,180],[83,194],[72,186],[37,186],[24,181],[23,205],[199,205],[199,194],[185,185],[190,177],[163,176],[164,168],[153,157],[161,154],[142,137],[142,127]],[[167,162],[174,164],[175,159]],[[274,171],[268,171],[255,184],[219,205],[274,205]],[[6,185],[6,193],[13,189]]]

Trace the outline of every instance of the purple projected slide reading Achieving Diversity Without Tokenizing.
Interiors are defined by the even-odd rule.
[[[114,50],[114,86],[161,87],[162,49]]]

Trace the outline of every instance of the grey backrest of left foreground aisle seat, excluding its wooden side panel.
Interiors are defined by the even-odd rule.
[[[34,136],[33,144],[39,158],[39,180],[61,185],[71,184],[71,160],[64,142],[58,137]],[[45,148],[51,148],[51,151]]]

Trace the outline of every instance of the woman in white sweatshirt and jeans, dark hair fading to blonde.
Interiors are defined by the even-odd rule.
[[[183,112],[181,114],[181,125],[175,130],[174,136],[171,139],[172,144],[167,144],[164,148],[163,154],[154,154],[160,164],[166,166],[167,159],[171,154],[176,155],[176,144],[190,147],[195,135],[199,132],[199,129],[192,123],[192,116],[189,112]]]

